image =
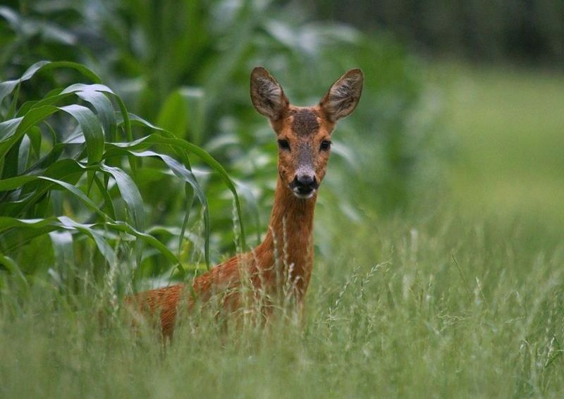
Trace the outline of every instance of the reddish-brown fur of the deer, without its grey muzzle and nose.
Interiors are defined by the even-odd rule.
[[[359,74],[360,70],[349,71],[343,75],[343,78],[351,73]],[[257,76],[263,79],[260,82],[262,86],[259,86],[258,89],[263,92],[274,90],[274,94],[267,93],[266,96],[269,97],[266,98],[263,92],[255,91],[257,90],[255,83]],[[358,79],[357,75],[354,75],[354,78]],[[335,85],[341,80],[338,80]],[[259,112],[264,115],[268,113],[278,140],[288,140],[294,149],[300,146],[300,148],[312,149],[309,160],[312,163],[315,178],[321,182],[325,176],[329,151],[318,149],[322,141],[331,139],[331,132],[335,127],[334,121],[342,117],[338,115],[332,118],[332,110],[326,106],[331,90],[317,106],[296,107],[289,104],[279,85],[270,85],[278,85],[278,82],[266,70],[255,68],[251,91],[253,104]],[[362,73],[360,73],[360,85],[362,87]],[[278,87],[279,93],[276,91]],[[357,101],[360,92],[352,94],[357,94],[355,97]],[[350,112],[352,109],[348,113]],[[302,116],[304,113],[308,115],[301,121],[294,121],[298,113],[301,113]],[[312,120],[311,113],[315,116],[315,120]],[[195,278],[192,281],[192,290],[198,300],[205,302],[214,293],[227,293],[223,297],[223,306],[233,311],[238,309],[243,302],[238,293],[238,288],[243,281],[248,281],[255,293],[263,293],[267,298],[279,295],[283,284],[290,281],[291,294],[295,295],[298,304],[302,303],[313,267],[312,231],[317,191],[309,199],[302,199],[296,197],[290,189],[298,162],[297,150],[279,150],[274,207],[264,240],[251,252],[238,254],[215,266],[206,274]],[[159,315],[162,334],[170,337],[176,323],[181,298],[185,298],[188,302],[188,308],[194,304],[194,295],[188,290],[190,286],[187,284],[177,284],[139,293],[135,297],[128,298],[128,302],[130,304],[135,302],[142,312]]]

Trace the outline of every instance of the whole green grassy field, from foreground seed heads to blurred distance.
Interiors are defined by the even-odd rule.
[[[453,143],[448,190],[362,223],[319,207],[317,238],[338,239],[317,254],[302,324],[226,333],[193,317],[162,348],[120,312],[101,328],[94,290],[37,284],[26,300],[4,293],[0,396],[564,395],[564,77],[426,75]]]

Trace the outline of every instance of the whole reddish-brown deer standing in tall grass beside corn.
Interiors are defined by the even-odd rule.
[[[262,243],[250,252],[192,279],[129,297],[142,314],[160,321],[163,337],[172,338],[181,303],[191,309],[223,293],[221,307],[240,309],[257,293],[271,298],[283,291],[303,301],[313,269],[313,219],[317,194],[331,154],[331,134],[339,119],[352,113],[362,93],[364,76],[359,68],[348,70],[331,85],[319,104],[293,106],[278,81],[262,67],[252,70],[250,97],[255,109],[269,118],[278,143],[278,177],[274,206]],[[290,290],[288,288],[290,282]],[[251,297],[238,290],[251,286]],[[286,284],[286,286],[285,286]],[[247,296],[245,296],[247,295]],[[185,303],[185,302],[188,303]],[[269,300],[262,305],[268,317]]]

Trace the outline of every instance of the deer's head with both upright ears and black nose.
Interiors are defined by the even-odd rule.
[[[293,106],[268,70],[252,70],[252,104],[270,120],[278,139],[278,175],[295,197],[307,200],[317,192],[331,153],[331,133],[339,119],[355,110],[362,80],[362,71],[351,69],[316,106]]]

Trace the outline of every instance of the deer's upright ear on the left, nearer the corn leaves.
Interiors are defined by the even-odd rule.
[[[272,121],[281,118],[290,104],[280,83],[262,66],[251,73],[251,100],[255,109]]]

